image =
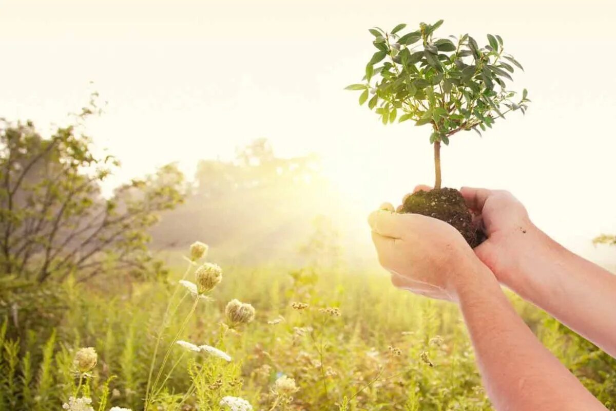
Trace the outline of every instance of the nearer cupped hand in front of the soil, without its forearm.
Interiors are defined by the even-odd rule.
[[[395,287],[432,298],[458,301],[458,289],[479,262],[462,235],[444,221],[396,214],[386,204],[368,223],[379,262]]]

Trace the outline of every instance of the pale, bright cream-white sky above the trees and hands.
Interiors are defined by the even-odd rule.
[[[614,261],[590,245],[616,233],[614,15],[611,0],[4,0],[0,116],[49,129],[97,90],[107,113],[89,133],[123,161],[119,179],[267,137],[279,155],[319,153],[367,213],[432,182],[429,130],[383,126],[342,89],[363,75],[370,26],[444,18],[441,36],[501,35],[533,100],[482,139],[456,134],[444,184],[509,189],[557,240]]]

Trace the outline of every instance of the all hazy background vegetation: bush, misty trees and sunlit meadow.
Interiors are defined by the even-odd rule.
[[[352,239],[338,227],[354,216],[317,157],[279,158],[257,139],[235,161],[200,161],[194,178],[164,165],[106,195],[100,184],[120,164],[86,134],[96,113],[93,99],[51,136],[28,121],[0,123],[0,410],[60,409],[75,388],[72,358],[82,346],[99,352],[94,404],[142,409],[155,330],[195,240],[210,245],[208,259],[224,274],[183,338],[224,349],[233,362],[174,349],[168,366],[177,371],[159,409],[216,410],[224,395],[270,409],[280,375],[299,385],[294,410],[490,409],[456,307],[395,290],[367,263],[371,254],[347,248]],[[614,237],[595,242],[614,245]],[[221,313],[232,298],[257,314],[227,334]],[[616,409],[616,361],[511,299],[541,341]],[[176,303],[181,318],[190,304]],[[319,310],[327,307],[341,316]],[[177,323],[164,324],[166,343]]]

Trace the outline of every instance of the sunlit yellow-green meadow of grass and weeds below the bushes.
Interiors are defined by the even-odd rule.
[[[153,376],[170,349],[150,410],[248,409],[225,405],[228,396],[254,410],[491,409],[454,304],[396,290],[383,273],[344,264],[223,266],[222,281],[196,298],[177,281],[188,265],[186,280],[198,282],[193,273],[202,263],[179,260],[168,277],[144,282],[120,275],[87,285],[3,280],[0,410],[142,410],[159,332]],[[230,322],[232,299],[251,304],[254,319]],[[614,410],[616,361],[511,299],[543,344]],[[87,347],[97,362],[79,372],[75,356]],[[72,396],[92,402],[70,404]]]

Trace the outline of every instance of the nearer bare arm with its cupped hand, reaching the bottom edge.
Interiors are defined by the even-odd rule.
[[[449,224],[419,214],[370,214],[379,262],[396,287],[446,299],[463,314],[498,411],[606,410],[514,311],[498,280]]]

